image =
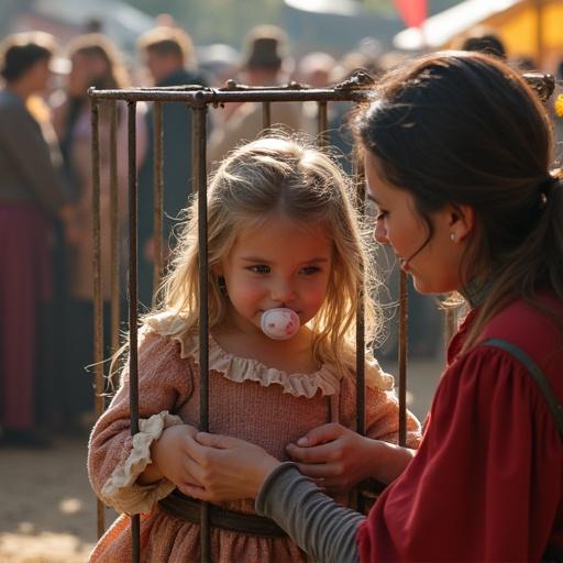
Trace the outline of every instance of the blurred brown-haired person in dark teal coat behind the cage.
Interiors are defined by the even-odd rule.
[[[194,44],[180,27],[161,25],[139,40],[154,86],[206,85],[197,70]],[[143,307],[153,300],[154,245],[154,108],[146,113],[148,143],[139,173],[139,299]],[[174,245],[173,229],[177,216],[186,208],[192,190],[192,113],[186,103],[168,102],[163,107],[163,178],[164,178],[164,254]]]

